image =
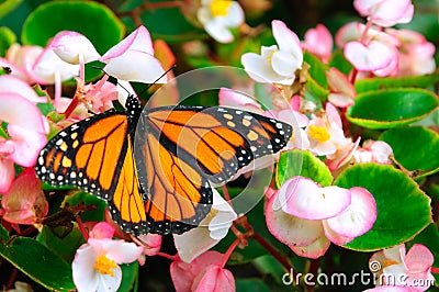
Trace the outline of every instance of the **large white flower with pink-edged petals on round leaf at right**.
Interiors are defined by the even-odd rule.
[[[365,189],[322,188],[302,177],[285,181],[266,209],[270,233],[307,258],[323,256],[330,242],[351,242],[372,228],[375,220],[375,201]]]

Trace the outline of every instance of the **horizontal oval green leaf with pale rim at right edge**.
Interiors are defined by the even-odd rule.
[[[420,121],[438,108],[435,93],[423,89],[390,89],[359,94],[348,120],[367,128],[391,128]]]

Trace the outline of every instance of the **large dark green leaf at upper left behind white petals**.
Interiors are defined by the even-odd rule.
[[[123,23],[101,3],[54,1],[40,5],[29,15],[23,24],[22,42],[26,45],[45,46],[60,31],[75,31],[86,35],[101,54],[125,34]]]

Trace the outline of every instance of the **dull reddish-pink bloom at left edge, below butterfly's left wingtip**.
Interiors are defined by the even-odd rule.
[[[1,199],[3,220],[14,224],[33,224],[48,212],[41,181],[33,168],[26,168]]]

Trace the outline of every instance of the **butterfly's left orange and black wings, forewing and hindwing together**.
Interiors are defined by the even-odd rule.
[[[75,186],[109,203],[125,232],[145,233],[146,212],[133,160],[125,114],[105,112],[60,131],[41,151],[35,166],[42,181]]]

